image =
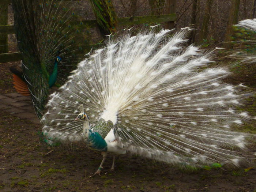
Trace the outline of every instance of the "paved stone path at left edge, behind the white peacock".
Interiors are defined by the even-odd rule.
[[[0,110],[12,114],[20,119],[29,120],[39,125],[39,118],[35,115],[30,96],[23,96],[19,93],[0,94]]]

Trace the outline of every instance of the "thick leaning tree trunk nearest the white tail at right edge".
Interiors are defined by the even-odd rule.
[[[226,35],[225,35],[225,42],[230,42],[232,40],[231,36],[234,35],[232,26],[237,24],[239,5],[240,5],[240,0],[231,0],[231,5],[229,8],[229,19],[227,21],[227,29],[226,29]],[[224,47],[227,49],[231,49],[232,44],[226,43]]]

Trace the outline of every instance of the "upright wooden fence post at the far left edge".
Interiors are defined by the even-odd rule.
[[[0,4],[0,25],[8,24],[8,4]],[[0,33],[0,53],[8,53],[8,35]]]

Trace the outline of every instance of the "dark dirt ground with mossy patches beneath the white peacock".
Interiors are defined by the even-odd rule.
[[[0,64],[1,94],[15,91],[8,69],[11,65],[17,63]],[[243,80],[253,87],[251,71],[236,67],[230,81],[237,84]],[[245,108],[255,115],[255,99],[249,99]],[[117,158],[115,171],[109,172],[109,155],[101,176],[90,178],[102,160],[101,154],[81,146],[49,147],[40,141],[38,131],[38,125],[0,111],[1,192],[256,192],[256,166],[251,165],[238,170],[221,167],[188,172],[123,155]],[[256,133],[253,126],[243,131]]]

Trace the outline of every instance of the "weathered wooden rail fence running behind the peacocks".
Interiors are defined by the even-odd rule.
[[[21,54],[19,52],[8,53],[8,34],[15,34],[14,26],[7,25],[8,4],[10,3],[11,0],[1,0],[0,2],[0,63],[19,61],[21,59]],[[117,18],[119,26],[173,22],[175,19],[175,13]],[[96,20],[84,20],[83,22],[88,26],[88,28],[94,28],[97,25]],[[90,45],[90,47],[94,46],[96,45]]]

